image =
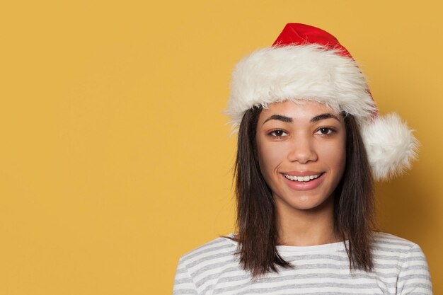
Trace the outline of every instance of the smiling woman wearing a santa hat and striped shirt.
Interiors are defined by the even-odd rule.
[[[335,37],[286,25],[237,64],[227,113],[238,233],[183,255],[174,294],[432,294],[420,247],[374,225],[372,178],[409,168],[417,141]]]

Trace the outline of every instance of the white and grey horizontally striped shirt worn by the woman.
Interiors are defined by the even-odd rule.
[[[236,241],[216,238],[183,255],[173,294],[432,294],[420,246],[389,233],[374,233],[372,272],[350,272],[343,242],[282,245],[277,250],[293,267],[252,280],[236,249]]]

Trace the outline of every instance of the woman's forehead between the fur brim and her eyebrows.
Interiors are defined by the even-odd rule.
[[[318,103],[311,100],[297,100],[297,102],[285,100],[282,103],[271,103],[270,105],[267,105],[267,108],[263,108],[260,113],[259,121],[265,120],[265,118],[270,115],[284,115],[286,117],[291,117],[294,120],[311,120],[312,117],[325,113],[341,117],[338,112],[335,112],[335,110],[324,103]]]

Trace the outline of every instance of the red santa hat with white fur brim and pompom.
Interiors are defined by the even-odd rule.
[[[376,180],[401,174],[415,158],[412,130],[395,113],[379,115],[357,63],[324,30],[288,23],[272,47],[238,62],[226,113],[238,127],[246,110],[284,100],[313,100],[353,115]]]

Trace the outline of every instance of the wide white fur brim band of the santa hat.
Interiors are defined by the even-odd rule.
[[[236,65],[226,114],[234,128],[246,110],[284,100],[315,100],[362,122],[376,112],[355,61],[321,45],[267,47]]]

